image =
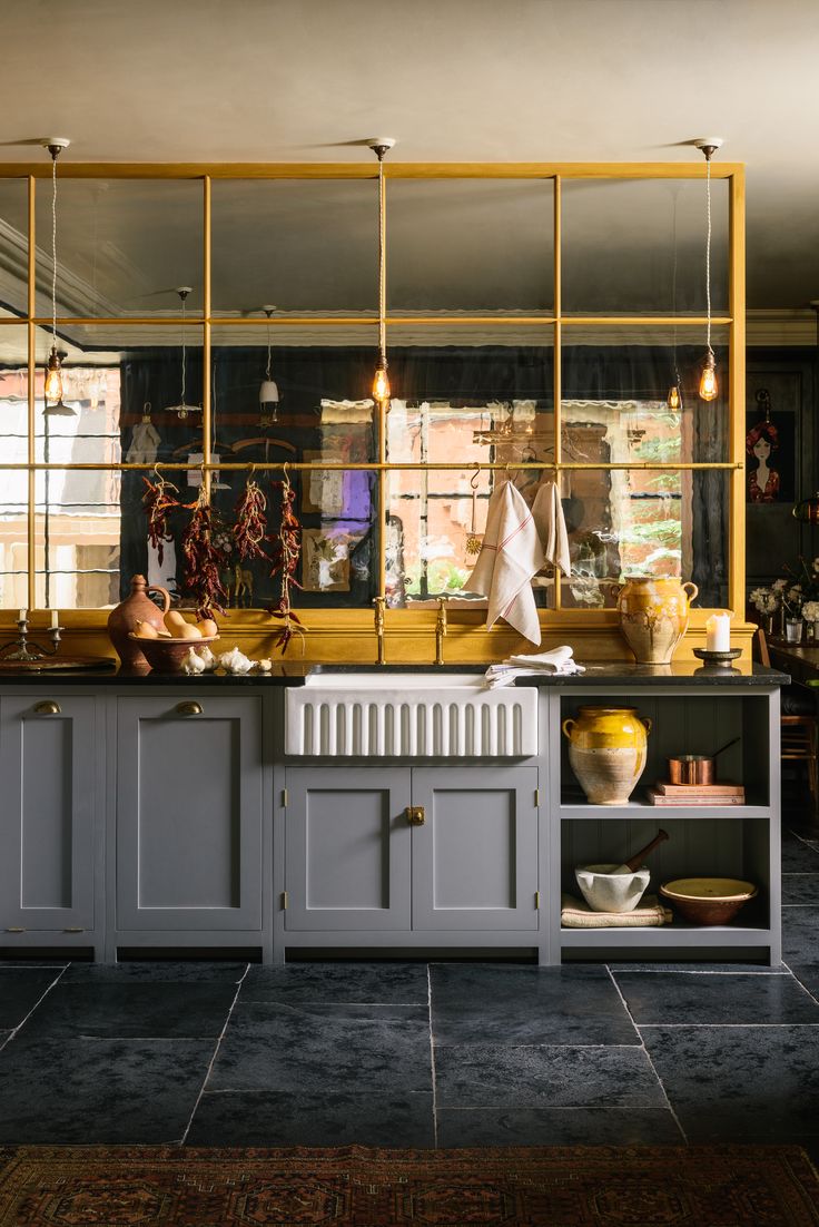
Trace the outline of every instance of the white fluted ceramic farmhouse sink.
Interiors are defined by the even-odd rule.
[[[487,690],[483,674],[311,674],[286,692],[284,750],[330,758],[535,755],[537,694]]]

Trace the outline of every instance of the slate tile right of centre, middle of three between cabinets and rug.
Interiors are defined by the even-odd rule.
[[[439,1108],[665,1107],[641,1048],[438,1048]]]

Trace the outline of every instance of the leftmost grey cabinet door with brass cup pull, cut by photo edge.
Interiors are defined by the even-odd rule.
[[[39,692],[42,694],[42,692]],[[104,739],[93,697],[0,699],[0,929],[6,948],[88,945]],[[91,939],[93,941],[93,937]]]

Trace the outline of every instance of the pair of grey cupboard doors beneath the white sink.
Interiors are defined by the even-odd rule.
[[[284,928],[538,929],[536,767],[287,769]],[[503,939],[501,939],[503,940]]]

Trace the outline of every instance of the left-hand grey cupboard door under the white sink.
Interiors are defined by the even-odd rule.
[[[288,929],[408,929],[410,772],[287,772]]]

